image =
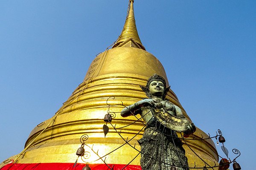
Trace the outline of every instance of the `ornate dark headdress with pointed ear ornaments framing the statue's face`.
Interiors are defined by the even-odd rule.
[[[140,88],[145,92],[148,98],[151,98],[152,96],[149,91],[149,85],[152,81],[155,81],[155,80],[163,82],[163,85],[164,85],[163,99],[165,99],[166,94],[170,89],[170,86],[166,88],[166,80],[163,77],[159,76],[158,74],[154,74],[153,76],[149,77],[146,87],[140,86]]]

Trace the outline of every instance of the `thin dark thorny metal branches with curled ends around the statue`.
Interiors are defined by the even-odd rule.
[[[114,119],[114,118],[116,117],[116,113],[121,113],[121,112],[111,112],[111,111],[110,111],[110,108],[111,108],[111,107],[113,107],[113,106],[122,106],[122,107],[125,107],[125,108],[127,108],[127,107],[126,107],[125,105],[123,105],[123,102],[122,102],[122,101],[120,101],[120,104],[113,104],[113,105],[111,105],[111,104],[110,104],[110,101],[109,101],[110,99],[116,99],[116,98],[115,98],[114,96],[111,96],[111,97],[109,97],[109,98],[107,99],[107,101],[106,101],[106,103],[107,103],[107,105],[108,105],[107,114],[111,116],[111,119]],[[150,111],[149,111],[149,112],[150,112]],[[149,113],[149,112],[148,112],[148,113]],[[131,115],[133,115],[133,114],[131,113]],[[130,142],[131,142],[137,135],[139,135],[139,134],[143,131],[143,129],[144,129],[145,127],[147,127],[147,124],[145,124],[145,122],[143,122],[143,120],[142,120],[143,117],[138,118],[138,117],[135,116],[135,115],[133,115],[133,116],[134,116],[137,120],[135,120],[134,122],[131,122],[131,123],[128,124],[128,125],[122,126],[122,127],[116,127],[116,124],[113,124],[111,121],[109,121],[109,123],[110,123],[111,127],[113,128],[113,130],[120,136],[120,138],[124,141],[124,143],[121,144],[119,147],[116,147],[116,149],[113,149],[111,152],[106,153],[104,156],[100,156],[100,155],[99,155],[99,150],[95,151],[95,150],[93,149],[93,145],[92,145],[92,147],[90,147],[89,145],[85,144],[85,141],[88,139],[88,135],[87,135],[87,134],[82,135],[81,138],[80,138],[80,142],[81,142],[84,146],[86,146],[87,148],[89,148],[94,154],[96,154],[96,156],[98,156],[98,158],[95,159],[95,160],[93,160],[93,161],[87,161],[86,159],[89,159],[89,158],[90,158],[90,152],[85,151],[84,154],[83,154],[83,156],[81,156],[82,161],[84,161],[85,163],[92,163],[92,162],[95,162],[95,161],[98,161],[98,160],[102,160],[102,162],[103,162],[104,164],[106,164],[106,166],[108,166],[108,168],[109,168],[110,170],[113,170],[113,167],[111,168],[111,167],[106,163],[106,158],[107,158],[107,156],[108,156],[109,154],[115,152],[115,151],[118,150],[119,148],[123,147],[125,144],[128,144],[130,147],[132,147],[134,150],[136,150],[136,151],[138,152],[138,154],[137,154],[136,156],[134,156],[134,158],[133,158],[128,164],[126,164],[125,167],[127,167],[129,164],[131,164],[131,162],[134,161],[134,159],[136,159],[137,156],[139,156],[140,154],[144,154],[144,153],[142,153],[140,150],[138,150],[138,149],[136,148],[136,143],[133,145],[133,144],[131,144]],[[125,138],[122,136],[122,128],[125,128],[125,127],[128,127],[128,126],[130,126],[130,125],[133,125],[134,123],[141,123],[141,124],[143,124],[144,126],[143,126],[131,139],[128,139],[128,138],[125,139]],[[153,128],[153,129],[154,129],[154,128],[156,128],[156,127],[148,127],[148,128]],[[159,132],[159,131],[157,131],[157,132],[158,132],[158,133],[163,133],[163,132]],[[189,146],[189,144],[187,144],[187,142],[186,142],[187,140],[201,140],[201,141],[204,142],[204,141],[207,140],[207,139],[212,139],[212,138],[216,138],[216,139],[217,139],[218,136],[222,136],[221,130],[218,129],[218,134],[216,134],[216,136],[210,136],[210,134],[208,133],[208,137],[207,137],[207,138],[204,138],[204,137],[201,135],[202,137],[201,137],[201,138],[197,138],[197,139],[196,139],[196,137],[195,137],[194,135],[193,135],[193,138],[192,138],[192,139],[186,139],[186,138],[184,138],[184,136],[182,135],[182,133],[180,133],[180,134],[181,134],[181,138],[178,138],[178,137],[176,137],[176,138],[182,139],[183,142],[189,147],[189,149],[192,150],[192,152],[193,152],[199,159],[201,159],[201,161],[204,162],[205,166],[204,166],[204,167],[196,167],[196,163],[195,163],[195,166],[194,166],[194,167],[183,167],[183,166],[176,166],[176,165],[175,165],[175,167],[182,167],[182,168],[189,168],[189,169],[204,169],[204,168],[211,168],[211,169],[213,169],[213,168],[215,168],[215,167],[221,167],[221,166],[223,166],[223,165],[216,165],[216,163],[214,164],[214,166],[210,166],[210,165],[209,165],[206,161],[204,161],[204,159],[201,158],[201,157]],[[165,134],[165,135],[166,135],[166,134]],[[172,137],[174,137],[174,136],[172,136]],[[205,142],[204,142],[204,143],[205,143]],[[209,147],[207,144],[206,144],[206,146]],[[210,147],[209,147],[209,148],[210,148]],[[210,148],[210,149],[212,150],[212,148]],[[233,159],[233,161],[231,161],[231,159],[230,159],[230,161],[229,161],[227,164],[233,163],[233,162],[236,161],[236,159],[241,155],[240,151],[237,150],[237,149],[233,149],[232,152],[233,152],[234,154],[238,155],[238,156],[236,156],[236,158]],[[216,152],[215,152],[215,153],[216,153]],[[216,154],[218,155],[218,153],[216,153]],[[145,154],[144,154],[144,155],[145,155]],[[148,158],[151,158],[151,156],[149,156],[149,155],[145,155],[145,156],[147,156]],[[218,156],[219,156],[220,158],[222,158],[220,155],[218,155]],[[172,165],[173,165],[173,164],[168,164],[168,163],[165,163],[165,162],[163,162],[163,161],[161,161],[161,160],[157,160],[157,159],[154,159],[154,158],[151,158],[151,159],[154,160],[154,161],[159,161],[160,163],[164,163],[165,165],[168,165],[168,166],[172,166]],[[225,164],[225,165],[227,165],[227,164]],[[125,167],[123,167],[122,170],[125,169]]]

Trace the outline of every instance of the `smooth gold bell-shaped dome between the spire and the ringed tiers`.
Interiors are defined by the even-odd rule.
[[[145,78],[158,73],[167,79],[163,65],[152,54],[140,48],[119,47],[97,56],[90,65],[84,81],[90,77],[124,73],[137,74]]]

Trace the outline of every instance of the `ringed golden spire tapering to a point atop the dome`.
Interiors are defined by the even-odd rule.
[[[145,50],[145,47],[140,41],[140,37],[136,28],[133,3],[134,0],[130,0],[129,12],[125,20],[125,26],[122,30],[121,35],[116,40],[116,44],[113,45],[113,48],[125,46],[141,48]]]

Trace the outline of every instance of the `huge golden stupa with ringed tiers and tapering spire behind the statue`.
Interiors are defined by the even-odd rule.
[[[147,79],[153,74],[159,74],[167,80],[165,70],[160,61],[154,55],[145,51],[139,38],[134,19],[134,0],[130,0],[129,10],[122,30],[113,48],[99,54],[91,63],[83,82],[74,90],[73,94],[64,102],[64,105],[56,112],[55,116],[37,125],[29,135],[25,144],[25,150],[13,159],[12,164],[34,163],[73,163],[77,159],[76,151],[81,146],[80,137],[88,135],[86,144],[93,147],[84,149],[90,152],[90,158],[86,161],[90,164],[130,164],[140,165],[140,155],[116,133],[109,124],[110,130],[104,135],[102,126],[108,110],[116,113],[112,123],[116,127],[129,125],[134,120],[133,116],[123,118],[119,112],[122,110],[120,102],[128,106],[145,98],[140,85],[145,86]],[[167,85],[169,85],[167,80]],[[109,97],[111,97],[109,99]],[[113,99],[113,97],[115,99]],[[169,90],[167,98],[180,107],[184,115],[185,110],[172,90]],[[111,107],[107,105],[110,103]],[[122,129],[124,139],[132,139],[142,129],[140,122],[134,123]],[[135,144],[140,150],[137,140],[143,132],[135,136],[129,143]],[[207,138],[207,134],[197,128],[195,139]],[[192,138],[192,137],[191,137]],[[218,164],[218,154],[211,139],[187,140],[188,146],[204,159],[209,165]],[[120,145],[119,149],[115,150]],[[189,167],[204,167],[205,163],[195,156],[195,153],[185,144],[186,156]],[[111,151],[114,152],[110,153]],[[107,153],[107,156],[105,156]],[[105,156],[99,159],[99,156]],[[84,163],[81,157],[78,163]],[[1,167],[5,166],[1,164]],[[26,169],[26,168],[25,168]]]

